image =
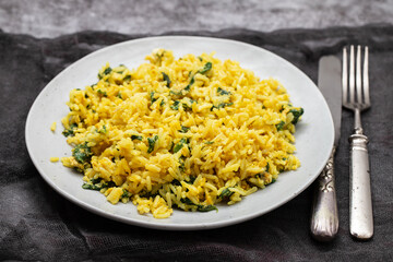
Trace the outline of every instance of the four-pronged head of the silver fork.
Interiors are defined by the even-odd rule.
[[[343,105],[347,108],[366,109],[370,107],[369,78],[368,78],[368,47],[365,47],[364,67],[361,72],[361,46],[357,46],[356,68],[355,47],[349,52],[349,83],[347,49],[343,49]],[[361,78],[362,76],[362,78]],[[362,81],[361,81],[362,80]],[[348,90],[349,84],[349,90]],[[349,93],[349,94],[348,94]]]

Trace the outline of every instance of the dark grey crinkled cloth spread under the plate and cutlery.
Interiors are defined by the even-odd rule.
[[[317,80],[323,55],[347,44],[370,47],[372,107],[362,115],[370,139],[374,237],[348,231],[349,145],[353,114],[343,111],[336,155],[340,231],[330,243],[310,237],[312,188],[269,214],[203,231],[163,231],[94,215],[56,193],[27,154],[25,120],[35,97],[61,70],[102,47],[144,36],[83,32],[53,39],[0,32],[0,258],[39,261],[392,261],[393,26],[293,29],[260,33],[226,29],[177,33],[241,40],[269,49]]]

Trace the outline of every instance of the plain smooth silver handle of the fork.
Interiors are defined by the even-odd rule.
[[[349,230],[358,239],[373,235],[369,156],[366,135],[355,133],[350,142]]]

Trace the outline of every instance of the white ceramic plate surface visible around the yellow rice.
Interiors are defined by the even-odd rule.
[[[61,118],[68,114],[66,102],[72,88],[97,82],[98,70],[109,62],[132,69],[145,62],[155,48],[174,51],[176,57],[215,51],[216,58],[233,59],[261,79],[275,78],[287,88],[295,106],[305,115],[297,124],[296,156],[301,167],[279,175],[277,181],[231,206],[218,205],[218,212],[174,211],[167,219],[140,215],[132,203],[110,204],[97,191],[82,189],[82,175],[50,163],[52,156],[70,156],[71,147],[61,134]],[[56,132],[50,124],[56,121]],[[320,174],[333,146],[333,121],[329,107],[313,82],[299,69],[262,48],[226,39],[192,36],[151,37],[120,43],[95,51],[57,75],[34,102],[26,121],[26,144],[34,165],[43,178],[61,195],[98,215],[123,223],[172,230],[206,229],[233,225],[265,214],[298,195]]]

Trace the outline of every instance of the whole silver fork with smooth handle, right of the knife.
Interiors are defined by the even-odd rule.
[[[361,70],[361,47],[350,46],[349,74],[347,73],[347,50],[343,50],[343,106],[355,114],[354,134],[350,142],[350,189],[349,189],[349,230],[358,239],[369,239],[373,235],[370,168],[367,151],[368,138],[364,134],[360,112],[371,106],[368,76],[368,47],[365,47]],[[361,72],[362,71],[362,72]],[[349,84],[348,84],[349,75]]]

